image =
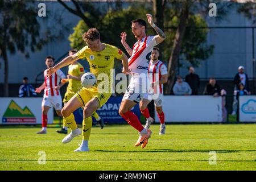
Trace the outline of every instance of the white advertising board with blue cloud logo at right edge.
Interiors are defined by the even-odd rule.
[[[256,96],[239,97],[239,121],[256,121]]]

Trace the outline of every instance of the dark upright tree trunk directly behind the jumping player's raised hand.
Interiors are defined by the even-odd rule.
[[[153,10],[154,10],[154,22],[155,24],[164,31],[164,2],[165,0],[153,0]],[[164,42],[159,44],[160,56],[162,59]]]

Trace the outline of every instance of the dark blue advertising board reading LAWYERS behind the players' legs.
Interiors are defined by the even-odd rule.
[[[100,109],[97,110],[98,115],[104,119],[105,123],[126,123],[119,113],[119,107],[121,105],[123,97],[110,97],[108,102],[104,104]],[[138,118],[141,118],[141,111],[139,110],[139,104],[131,109]],[[77,109],[73,113],[75,115],[75,120],[77,123],[82,123],[82,109]],[[93,118],[93,123],[96,122],[96,119]]]

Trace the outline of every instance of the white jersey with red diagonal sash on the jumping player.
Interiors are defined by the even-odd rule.
[[[131,73],[147,74],[150,55],[156,45],[155,36],[146,36],[134,44],[133,53],[128,59],[128,65],[129,69],[131,69]]]

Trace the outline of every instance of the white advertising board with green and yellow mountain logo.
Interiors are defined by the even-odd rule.
[[[43,98],[0,98],[0,124],[40,124],[42,123]],[[48,123],[53,123],[53,108],[48,111]]]

